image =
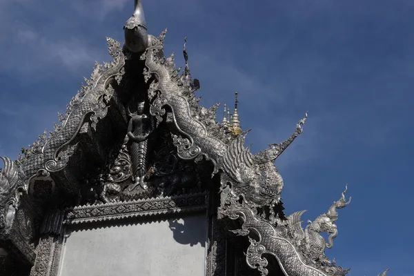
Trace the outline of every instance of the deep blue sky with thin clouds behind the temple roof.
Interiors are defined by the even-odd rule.
[[[0,155],[58,121],[57,112],[123,41],[132,0],[0,0]],[[351,275],[413,276],[414,1],[144,0],[149,32],[184,37],[204,106],[239,92],[253,152],[304,133],[276,161],[286,213],[326,212],[348,183],[327,250]],[[221,121],[222,109],[217,119]]]

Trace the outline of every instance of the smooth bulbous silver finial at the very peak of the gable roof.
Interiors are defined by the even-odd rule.
[[[124,26],[125,46],[130,52],[143,52],[148,47],[148,32],[142,0],[135,0],[135,10]]]

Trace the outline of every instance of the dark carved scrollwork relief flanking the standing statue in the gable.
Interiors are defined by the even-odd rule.
[[[148,143],[152,145],[152,148],[147,152],[146,170],[141,176],[148,188],[144,189],[141,186],[135,188],[136,182],[132,180],[134,172],[128,141],[128,138],[125,139],[119,150],[117,148],[112,150],[103,168],[88,170],[88,173],[84,175],[81,180],[79,204],[201,193],[206,190],[211,172],[208,172],[207,177],[201,177],[201,174],[204,174],[210,166],[204,166],[203,160],[197,164],[193,161],[181,161],[172,135],[164,123],[157,128],[157,137],[148,138]],[[201,181],[201,179],[204,180]]]

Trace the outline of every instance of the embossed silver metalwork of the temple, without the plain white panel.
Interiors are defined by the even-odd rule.
[[[55,131],[39,136],[17,164],[3,158],[0,238],[5,229],[11,229],[8,235],[14,235],[14,242],[29,263],[34,262],[34,244],[29,240],[36,227],[33,219],[19,209],[21,195],[28,201],[41,199],[46,206],[53,202],[50,199],[62,199],[64,207],[45,214],[44,206],[37,206],[43,219],[37,230],[40,239],[31,275],[55,275],[62,224],[206,210],[208,201],[203,192],[212,187],[205,182],[215,175],[220,176],[220,187],[213,187],[219,190],[220,200],[217,217],[210,217],[208,275],[224,275],[225,264],[219,264],[225,254],[219,241],[223,237],[213,238],[219,232],[218,221],[231,221],[238,226],[230,229],[233,233],[248,237],[246,264],[262,275],[268,274],[265,254],[277,259],[288,276],[346,275],[348,270],[324,255],[337,236],[336,210],[349,204],[345,192],[327,213],[309,221],[305,229],[300,223],[304,211],[287,218],[282,212],[284,181],[275,159],[302,133],[308,113],[286,141],[270,144],[253,155],[244,146],[248,131],[242,132],[240,127],[237,99],[235,113],[230,115],[227,110],[226,114],[225,109],[222,124],[215,119],[219,103],[211,108],[199,106],[195,92],[200,83],[190,73],[186,39],[185,67],[180,74],[174,55],[164,57],[166,31],[159,37],[147,34],[140,0],[135,1],[135,12],[124,26],[124,34],[124,50],[117,41],[107,38],[114,60],[95,65],[92,77],[70,101],[66,115],[59,115],[61,124],[55,126]],[[116,99],[114,105],[109,104],[112,99]],[[131,101],[141,105],[134,114],[128,111]],[[144,105],[148,106],[145,111]],[[114,127],[106,121],[108,114],[115,120],[112,123],[116,130],[108,138],[113,145],[102,146],[98,141],[103,137],[99,126],[106,124],[103,128],[108,131]],[[146,119],[150,119],[148,124]],[[157,142],[150,149],[152,132],[157,133],[153,135]],[[85,142],[79,139],[81,135],[90,139]],[[122,135],[128,137],[124,142],[119,141]],[[101,160],[95,164],[95,159],[87,156],[88,150],[95,150],[94,157]],[[89,166],[88,171],[82,172],[83,176],[71,175],[71,160],[79,162],[79,167]],[[201,168],[208,162],[213,168]],[[55,184],[65,184],[66,190],[55,189]],[[137,185],[141,189],[135,189]],[[85,190],[90,197],[83,193]],[[85,205],[79,206],[75,201]],[[67,212],[66,219],[62,210]],[[324,232],[330,235],[328,242],[321,235]]]

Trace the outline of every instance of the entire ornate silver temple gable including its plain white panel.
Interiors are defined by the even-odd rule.
[[[275,159],[307,113],[252,154],[237,92],[221,122],[219,104],[199,106],[186,41],[180,72],[139,0],[124,33],[55,130],[0,157],[0,275],[347,275],[325,255],[346,188],[306,228],[304,211],[284,214]]]

